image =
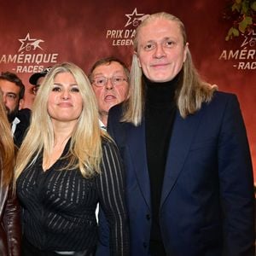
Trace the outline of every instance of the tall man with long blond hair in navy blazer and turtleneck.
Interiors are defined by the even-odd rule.
[[[253,169],[237,97],[201,80],[174,15],[145,17],[133,45],[131,94],[108,114],[125,165],[131,255],[254,256]]]

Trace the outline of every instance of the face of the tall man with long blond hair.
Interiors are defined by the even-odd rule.
[[[186,60],[188,44],[176,21],[155,19],[138,34],[137,57],[144,75],[153,82],[174,79]]]

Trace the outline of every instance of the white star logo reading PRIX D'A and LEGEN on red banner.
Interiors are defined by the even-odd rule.
[[[144,14],[138,14],[137,8],[135,8],[131,14],[125,15],[128,20],[125,24],[126,29],[108,29],[106,32],[106,38],[111,40],[113,46],[129,46],[132,45],[132,38],[135,36],[136,27],[140,24]],[[128,29],[127,27],[131,28]]]

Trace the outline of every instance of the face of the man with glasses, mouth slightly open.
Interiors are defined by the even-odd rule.
[[[129,84],[125,70],[119,62],[112,61],[110,64],[102,64],[95,68],[92,73],[92,80],[106,78],[107,83],[101,87],[92,82],[96,94],[99,112],[101,115],[108,115],[108,111],[114,105],[124,102],[128,96]],[[121,82],[113,83],[113,78],[120,78]]]

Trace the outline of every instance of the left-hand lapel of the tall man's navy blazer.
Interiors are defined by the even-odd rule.
[[[148,164],[145,141],[145,123],[137,127],[132,126],[129,131],[127,146],[131,154],[132,165],[134,167],[137,183],[142,191],[143,197],[150,207],[150,182],[148,177]]]

